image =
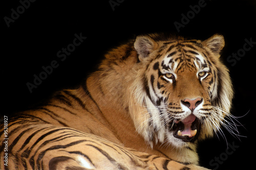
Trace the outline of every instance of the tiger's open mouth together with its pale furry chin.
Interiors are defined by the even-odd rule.
[[[177,148],[183,148],[189,143],[195,143],[200,135],[201,124],[198,118],[193,122],[176,121],[171,123],[166,133],[168,142]]]

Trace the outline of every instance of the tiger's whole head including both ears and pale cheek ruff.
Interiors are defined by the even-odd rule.
[[[152,144],[185,147],[211,137],[229,116],[233,90],[220,61],[222,35],[204,41],[137,36],[136,78],[129,88],[135,127]]]

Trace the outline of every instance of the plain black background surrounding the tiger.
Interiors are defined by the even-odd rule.
[[[246,137],[239,140],[223,129],[227,142],[239,148],[226,155],[227,142],[221,135],[208,139],[199,144],[200,164],[212,169],[217,164],[218,169],[256,169],[256,44],[236,64],[227,61],[228,56],[243,49],[245,39],[256,42],[256,2],[205,1],[206,6],[179,33],[174,22],[181,23],[181,14],[186,15],[191,11],[189,6],[198,5],[199,1],[118,2],[113,10],[109,1],[37,0],[8,28],[4,18],[11,18],[11,9],[17,11],[21,4],[1,1],[0,114],[10,116],[56,90],[76,86],[96,69],[106,51],[137,34],[170,32],[203,40],[219,33],[225,37],[222,59],[235,90],[232,114],[240,117],[244,127],[238,130]],[[80,33],[87,39],[65,61],[60,61],[57,52]],[[33,83],[33,75],[39,75],[41,67],[53,60],[59,66],[30,93],[26,83]],[[224,159],[220,159],[221,163],[209,163],[220,156]]]

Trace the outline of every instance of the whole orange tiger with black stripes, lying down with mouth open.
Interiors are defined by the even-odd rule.
[[[235,129],[224,45],[165,33],[120,44],[78,87],[9,120],[1,169],[207,169],[198,142]]]

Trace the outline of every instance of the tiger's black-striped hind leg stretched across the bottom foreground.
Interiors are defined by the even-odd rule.
[[[1,169],[205,169],[137,152],[67,127],[15,124],[10,134],[9,164],[1,164]],[[1,159],[3,154],[1,150]]]

